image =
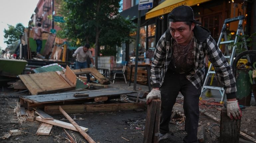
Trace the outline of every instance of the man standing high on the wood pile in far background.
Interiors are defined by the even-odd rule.
[[[41,27],[41,23],[37,23],[36,27],[32,27],[32,30],[34,32],[33,39],[36,40],[36,44],[37,44],[37,55],[44,58],[44,56],[42,56],[40,54],[41,49],[42,49],[42,43],[43,43],[42,42],[42,33],[50,33],[50,32],[45,31],[45,29],[43,29]]]

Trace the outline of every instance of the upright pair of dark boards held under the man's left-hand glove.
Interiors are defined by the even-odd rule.
[[[146,125],[143,143],[158,143],[160,125],[161,100],[152,99],[147,106]]]

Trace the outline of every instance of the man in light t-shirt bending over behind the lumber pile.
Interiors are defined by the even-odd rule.
[[[76,62],[75,62],[75,69],[81,69],[81,68],[87,68],[87,57],[90,58],[91,63],[93,64],[93,68],[95,68],[95,64],[92,58],[92,54],[91,51],[89,50],[90,45],[89,44],[85,44],[83,47],[78,47],[74,54],[72,55],[73,57],[76,56]],[[87,82],[90,82],[90,75],[86,74],[87,77]]]

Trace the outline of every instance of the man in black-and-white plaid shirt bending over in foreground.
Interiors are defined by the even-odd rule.
[[[161,117],[159,140],[167,139],[169,122],[176,98],[184,96],[185,130],[184,143],[198,143],[199,96],[204,77],[204,57],[213,64],[227,95],[227,115],[240,119],[242,112],[236,100],[235,77],[231,66],[221,53],[210,31],[197,26],[193,10],[178,6],[168,15],[169,28],[158,41],[151,65],[152,90],[147,104],[160,98]]]

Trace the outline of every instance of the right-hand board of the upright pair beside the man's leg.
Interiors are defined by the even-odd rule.
[[[156,116],[155,116],[155,124],[154,124],[152,143],[158,143],[158,140],[159,140],[161,100],[156,99],[156,101],[157,101],[157,108],[156,108]]]

